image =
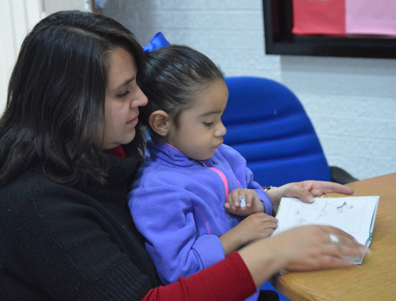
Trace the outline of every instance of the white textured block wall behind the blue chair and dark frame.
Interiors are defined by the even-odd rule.
[[[329,165],[358,179],[396,172],[396,60],[265,55],[261,0],[112,0],[143,45],[158,31],[227,76],[279,81],[300,99]]]

